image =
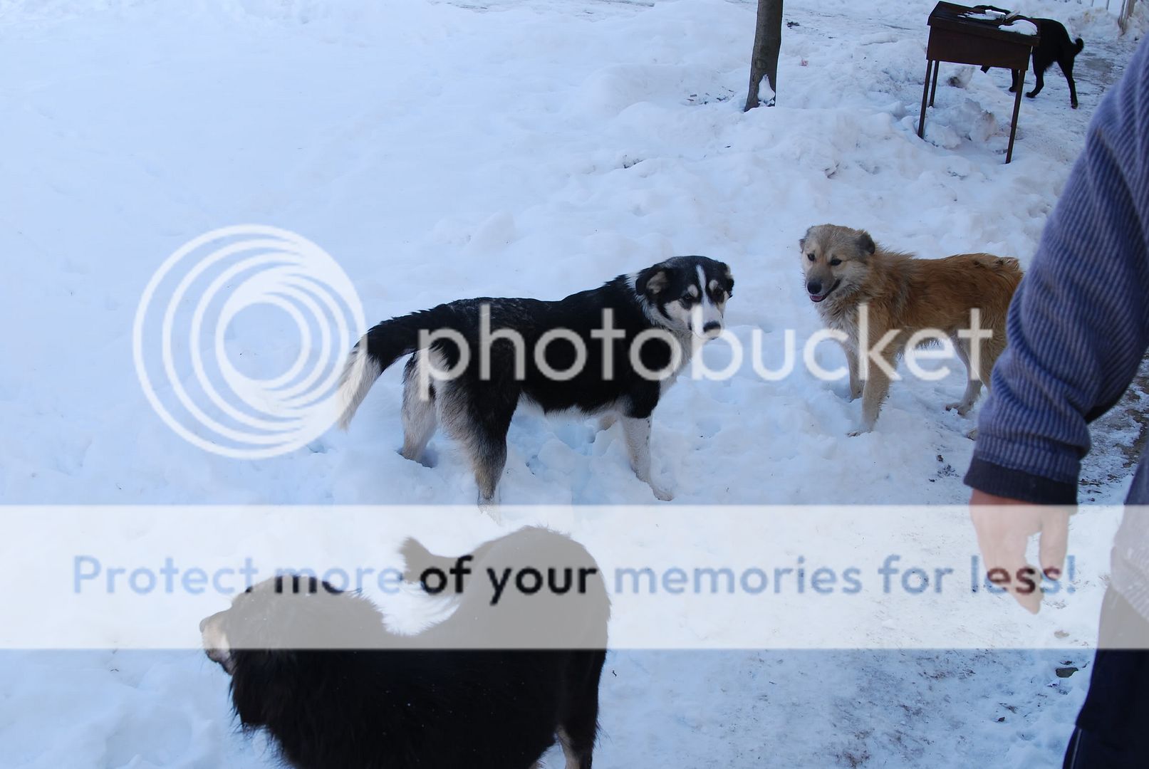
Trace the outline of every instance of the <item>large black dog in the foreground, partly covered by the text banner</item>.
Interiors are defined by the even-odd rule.
[[[392,634],[369,600],[298,575],[200,623],[244,729],[267,729],[298,769],[529,769],[556,735],[566,766],[591,769],[610,608],[586,550],[527,528],[475,560],[411,542],[404,552],[444,566],[444,584],[421,572],[429,591],[458,596],[418,635]],[[472,576],[440,592],[455,587],[452,567]]]

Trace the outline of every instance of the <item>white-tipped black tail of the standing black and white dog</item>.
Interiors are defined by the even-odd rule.
[[[424,332],[455,327],[452,308],[441,304],[432,310],[412,312],[384,320],[371,327],[355,343],[339,378],[339,427],[347,429],[375,380],[395,360],[419,348]]]

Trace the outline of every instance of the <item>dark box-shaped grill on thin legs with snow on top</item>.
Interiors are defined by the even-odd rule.
[[[1030,53],[1038,45],[1036,34],[1010,31],[1000,22],[979,21],[966,14],[981,13],[977,8],[939,2],[930,14],[930,42],[926,45],[926,83],[921,88],[921,117],[918,118],[918,137],[925,138],[926,101],[933,107],[938,91],[938,68],[941,62],[973,64],[976,67],[1003,67],[1017,72],[1018,83],[1013,99],[1013,123],[1009,130],[1009,149],[1005,162],[1013,160],[1013,137],[1017,134],[1017,116],[1021,111],[1021,92],[1025,91],[1025,71],[1030,68]]]

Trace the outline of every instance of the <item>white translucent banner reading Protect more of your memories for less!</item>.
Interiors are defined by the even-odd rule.
[[[324,589],[298,605],[288,599],[299,596],[249,604],[249,617],[275,621],[244,638],[236,630],[228,643],[594,646],[604,592],[611,648],[1092,646],[1121,510],[1072,516],[1065,569],[1040,581],[1035,615],[987,581],[965,506],[508,506],[502,514],[499,525],[475,507],[0,507],[0,646],[200,647],[201,620],[285,574],[302,575],[304,587],[361,591],[383,630],[355,624],[360,615],[345,627],[355,599]],[[409,537],[441,557],[421,556],[407,575],[422,575],[438,595],[403,581],[400,546]],[[476,552],[492,541],[499,546]],[[329,603],[306,603],[313,598]],[[449,632],[435,630],[448,622]]]

